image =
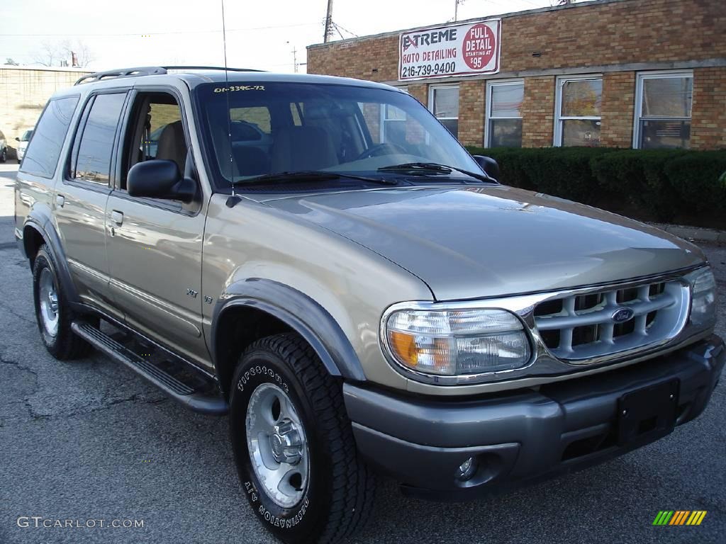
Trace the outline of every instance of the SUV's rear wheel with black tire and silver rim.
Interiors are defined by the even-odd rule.
[[[33,301],[38,330],[46,350],[59,360],[85,357],[93,347],[76,336],[70,323],[76,317],[65,297],[51,253],[42,246],[33,263]],[[98,319],[93,319],[94,324]]]

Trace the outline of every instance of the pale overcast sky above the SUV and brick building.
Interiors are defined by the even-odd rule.
[[[465,0],[459,20],[548,7],[556,0]],[[293,48],[322,41],[327,0],[225,0],[229,66],[293,71]],[[452,20],[454,0],[335,0],[346,38]],[[344,29],[344,30],[343,30]],[[335,33],[333,39],[340,39]],[[33,64],[45,44],[81,40],[108,70],[222,65],[221,0],[9,0],[0,4],[0,64]],[[305,67],[301,66],[300,71]]]

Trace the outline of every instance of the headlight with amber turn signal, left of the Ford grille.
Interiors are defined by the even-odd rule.
[[[383,320],[388,354],[404,368],[423,374],[512,370],[526,366],[531,356],[521,321],[505,310],[405,309]]]

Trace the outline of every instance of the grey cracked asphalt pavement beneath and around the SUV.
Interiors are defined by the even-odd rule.
[[[15,168],[0,165],[0,543],[275,542],[240,489],[227,418],[190,413],[102,355],[46,353],[28,263],[12,244]],[[723,336],[726,247],[702,247]],[[706,412],[663,440],[488,500],[428,503],[383,482],[350,542],[725,543],[725,410],[722,380]],[[698,527],[653,527],[660,510],[708,514]],[[74,526],[42,527],[56,519]]]

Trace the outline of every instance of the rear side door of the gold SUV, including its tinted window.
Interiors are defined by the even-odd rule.
[[[78,123],[54,199],[70,274],[86,304],[120,318],[108,290],[106,202],[126,90],[92,94]]]

